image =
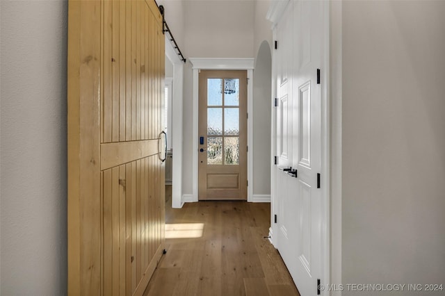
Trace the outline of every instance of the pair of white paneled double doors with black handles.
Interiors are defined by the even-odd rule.
[[[290,1],[277,24],[277,249],[300,294],[317,295],[322,276],[322,1]],[[284,169],[296,170],[291,176]],[[323,282],[323,281],[322,281]]]

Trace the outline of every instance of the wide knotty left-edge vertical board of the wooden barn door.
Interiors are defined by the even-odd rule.
[[[68,15],[68,292],[99,295],[101,3],[70,1]]]

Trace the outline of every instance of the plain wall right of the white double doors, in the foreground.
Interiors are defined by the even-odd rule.
[[[343,1],[343,283],[445,283],[444,13]]]

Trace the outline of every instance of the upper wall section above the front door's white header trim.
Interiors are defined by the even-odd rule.
[[[252,58],[254,1],[184,1],[184,51],[191,58]]]

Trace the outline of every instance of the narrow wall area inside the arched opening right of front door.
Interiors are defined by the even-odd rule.
[[[270,195],[270,116],[272,56],[266,40],[261,43],[253,72],[253,194]]]

